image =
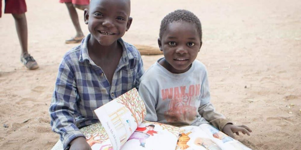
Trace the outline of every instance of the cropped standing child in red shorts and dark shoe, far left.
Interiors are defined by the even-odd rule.
[[[2,0],[0,0],[0,17],[2,15]],[[28,53],[27,21],[25,12],[27,11],[25,0],[5,0],[4,13],[11,13],[15,19],[17,34],[21,46],[21,62],[29,70],[39,68],[37,62]]]

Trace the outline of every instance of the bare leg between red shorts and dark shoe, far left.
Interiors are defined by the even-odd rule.
[[[21,45],[21,55],[28,54],[27,51],[27,21],[25,13],[12,14],[15,19],[15,25],[19,42]]]

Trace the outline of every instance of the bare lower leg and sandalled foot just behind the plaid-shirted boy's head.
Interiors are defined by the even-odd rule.
[[[73,26],[75,27],[75,30],[76,30],[76,36],[74,38],[70,39],[70,40],[67,40],[66,43],[80,42],[81,39],[83,38],[84,34],[82,33],[82,29],[80,28],[77,12],[76,12],[75,7],[73,6],[73,4],[71,2],[68,2],[68,3],[65,3],[65,4],[68,8],[70,18],[71,18]]]

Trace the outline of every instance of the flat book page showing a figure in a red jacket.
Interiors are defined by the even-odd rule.
[[[158,122],[143,121],[122,150],[174,150],[177,145],[179,128]]]

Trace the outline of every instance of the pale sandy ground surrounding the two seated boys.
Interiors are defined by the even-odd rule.
[[[29,71],[20,63],[14,19],[3,14],[0,149],[51,149],[56,143],[48,107],[61,58],[76,46],[64,44],[75,34],[64,4],[26,2],[29,52],[40,68]],[[253,129],[237,139],[252,149],[301,149],[301,1],[132,0],[134,20],[124,40],[157,47],[160,20],[179,8],[202,22],[197,59],[208,69],[216,110]],[[145,69],[162,56],[142,56]]]

